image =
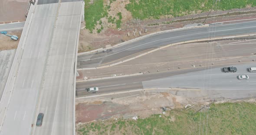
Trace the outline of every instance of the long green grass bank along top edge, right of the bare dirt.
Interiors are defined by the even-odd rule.
[[[159,19],[163,15],[175,17],[191,14],[193,11],[206,12],[212,5],[213,0],[130,0],[125,8],[133,18]],[[218,10],[244,8],[246,5],[256,6],[256,0],[220,0]]]

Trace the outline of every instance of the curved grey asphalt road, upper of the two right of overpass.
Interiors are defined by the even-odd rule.
[[[255,32],[256,21],[166,32],[152,35],[150,37],[127,43],[126,45],[116,48],[111,48],[106,51],[79,55],[77,68],[97,67],[101,64],[115,61],[150,48],[157,48],[159,46],[168,45],[171,43]]]

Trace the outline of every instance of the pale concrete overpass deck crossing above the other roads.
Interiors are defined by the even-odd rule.
[[[81,9],[82,1],[43,3],[30,9],[5,98],[0,101],[0,135],[73,134],[74,63]],[[45,114],[41,127],[35,125],[38,113]]]

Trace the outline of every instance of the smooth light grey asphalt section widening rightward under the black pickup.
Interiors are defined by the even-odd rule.
[[[221,68],[181,74],[157,80],[144,81],[144,88],[176,87],[201,90],[256,90],[256,74],[248,71],[255,63],[236,65],[237,72],[223,73]],[[238,75],[248,75],[248,80],[239,80]]]

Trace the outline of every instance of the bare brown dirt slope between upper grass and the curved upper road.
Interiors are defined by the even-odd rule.
[[[124,2],[122,2],[124,1]],[[105,48],[106,45],[116,45],[118,43],[137,38],[142,35],[146,35],[153,32],[168,30],[168,29],[176,29],[184,27],[187,24],[194,23],[203,23],[203,16],[207,16],[208,13],[200,13],[189,16],[181,16],[175,18],[161,18],[161,19],[132,19],[131,13],[129,13],[124,4],[126,4],[125,0],[117,0],[111,4],[111,12],[109,14],[111,16],[115,16],[118,12],[121,12],[122,18],[122,26],[121,30],[115,28],[107,23],[107,20],[103,20],[102,23],[104,29],[101,33],[94,32],[90,34],[87,29],[81,29],[80,37],[79,37],[79,52],[90,51],[97,48]],[[238,19],[250,19],[255,18],[256,16],[256,7],[248,7],[244,9],[234,9],[227,11],[216,11],[212,12],[212,15],[215,17],[209,17],[207,23],[214,22],[223,22],[229,20],[238,20]],[[218,16],[216,16],[218,15]],[[117,16],[115,16],[117,17]],[[173,22],[170,24],[164,24],[167,22]],[[152,24],[158,24],[153,25]],[[83,24],[85,25],[85,24]],[[151,26],[150,26],[151,25]],[[135,36],[133,36],[133,32],[137,29]],[[145,33],[145,29],[148,29],[148,32]],[[141,31],[141,35],[138,32]],[[127,36],[127,33],[130,33],[130,36]]]

